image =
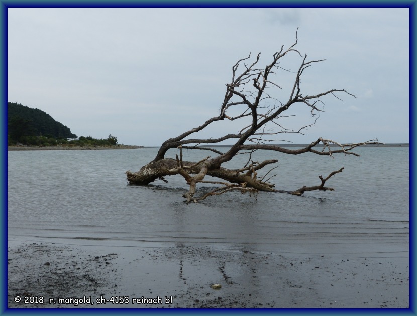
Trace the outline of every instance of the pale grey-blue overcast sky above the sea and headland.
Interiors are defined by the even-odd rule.
[[[300,53],[326,59],[308,68],[302,89],[357,98],[326,98],[305,136],[281,138],[409,142],[408,8],[8,8],[8,101],[77,136],[158,146],[217,116],[232,65],[261,52],[264,67],[294,43],[297,27]],[[287,100],[285,92],[276,97]],[[307,107],[294,113],[292,126],[311,118]]]

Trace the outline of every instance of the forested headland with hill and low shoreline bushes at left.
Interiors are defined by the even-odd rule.
[[[107,139],[92,136],[80,136],[56,121],[51,115],[37,108],[20,103],[7,103],[8,145],[27,146],[111,146],[117,144],[117,138],[111,134]]]

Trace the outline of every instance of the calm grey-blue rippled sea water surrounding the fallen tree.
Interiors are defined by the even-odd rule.
[[[222,149],[220,149],[222,150]],[[230,192],[186,205],[179,176],[132,186],[156,148],[138,150],[9,151],[9,240],[67,244],[159,246],[208,243],[233,249],[287,253],[361,253],[408,256],[409,148],[358,148],[361,157],[258,152],[276,157],[276,188],[320,184],[319,176],[345,167],[327,186],[303,197],[265,193],[256,201]],[[170,150],[167,156],[175,156]],[[184,151],[185,160],[205,153]],[[239,156],[229,167],[239,168]],[[208,188],[207,188],[208,187]],[[198,187],[203,193],[210,185]]]

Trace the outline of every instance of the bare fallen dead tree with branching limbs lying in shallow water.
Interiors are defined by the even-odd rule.
[[[232,80],[226,84],[226,93],[223,103],[220,107],[219,114],[215,117],[205,121],[202,125],[192,128],[181,135],[169,138],[166,140],[155,157],[154,160],[143,166],[138,172],[126,172],[127,180],[130,184],[146,185],[155,180],[165,180],[166,176],[179,174],[184,177],[186,183],[189,185],[189,190],[183,194],[187,203],[190,201],[197,202],[204,200],[211,195],[219,195],[228,191],[238,190],[242,193],[249,192],[249,194],[256,194],[259,191],[269,191],[278,193],[289,193],[293,195],[302,195],[306,191],[311,190],[333,190],[326,187],[326,181],[336,173],[340,173],[343,167],[337,171],[331,172],[326,178],[320,176],[321,183],[316,186],[304,186],[297,190],[279,190],[274,184],[269,182],[270,178],[266,179],[269,174],[268,171],[263,176],[259,172],[262,168],[275,164],[278,160],[270,159],[262,162],[252,160],[252,154],[256,150],[269,150],[271,152],[278,151],[289,155],[298,155],[306,152],[312,152],[318,155],[332,156],[333,154],[343,153],[345,155],[355,155],[352,149],[365,145],[375,144],[377,139],[369,140],[362,143],[354,144],[340,144],[331,139],[318,138],[308,146],[302,149],[289,149],[278,145],[271,144],[276,141],[274,137],[285,133],[300,133],[316,123],[318,114],[323,111],[320,107],[324,105],[321,101],[326,95],[331,95],[340,100],[337,94],[346,94],[355,97],[353,94],[344,89],[331,89],[325,92],[319,92],[312,95],[303,95],[301,93],[301,76],[304,71],[314,63],[324,60],[307,61],[307,56],[302,56],[295,48],[297,45],[297,37],[295,43],[288,49],[284,50],[281,47],[279,52],[272,56],[270,64],[265,68],[258,68],[260,53],[254,60],[246,64],[246,61],[251,60],[248,57],[239,60],[232,67]],[[291,73],[289,70],[281,67],[281,60],[289,54],[296,54],[301,57],[301,64],[297,71]],[[242,66],[243,64],[243,66]],[[277,97],[272,95],[272,92],[282,89],[278,85],[276,79],[278,73],[287,72],[293,74],[293,81],[290,82],[289,97],[286,102],[280,101]],[[288,115],[284,115],[285,111],[294,105],[305,106],[312,116],[312,123],[303,126],[299,129],[289,129],[282,125],[282,120]],[[240,113],[232,116],[230,113]],[[239,111],[236,111],[239,110]],[[228,115],[229,114],[229,115]],[[193,138],[193,135],[203,130],[207,126],[223,120],[242,122],[242,129],[234,134],[227,134],[219,138],[198,139]],[[226,152],[220,152],[210,145],[219,144],[225,140],[233,140],[234,144],[227,149]],[[317,145],[323,145],[322,150],[316,149]],[[336,148],[335,148],[336,147]],[[166,152],[171,148],[179,149],[179,156],[176,158],[166,158]],[[209,150],[215,153],[214,157],[206,157],[198,162],[189,162],[183,160],[182,149],[194,150]],[[222,164],[232,160],[238,154],[248,154],[248,161],[246,165],[240,169],[227,169],[222,167]],[[274,168],[272,168],[274,169]],[[219,181],[207,181],[206,176],[212,176]],[[221,181],[224,180],[224,181]],[[219,188],[195,197],[197,183],[212,183],[220,185]]]

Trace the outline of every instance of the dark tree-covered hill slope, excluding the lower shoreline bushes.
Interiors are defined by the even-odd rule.
[[[71,130],[39,109],[8,102],[8,134],[19,141],[22,136],[46,136],[48,138],[76,138]],[[48,144],[48,141],[46,141]]]

